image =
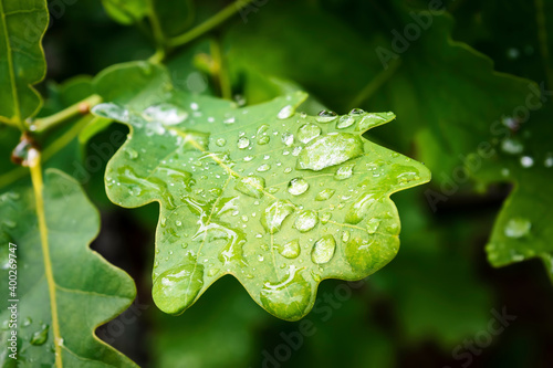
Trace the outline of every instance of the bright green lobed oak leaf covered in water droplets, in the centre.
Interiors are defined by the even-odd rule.
[[[302,92],[236,108],[175,93],[166,102],[93,112],[129,126],[107,165],[109,199],[157,201],[154,301],[189,307],[216,280],[237,277],[271,314],[312,308],[324,278],[359,280],[399,246],[389,196],[430,179],[428,169],[362,135],[392,113],[295,113]]]

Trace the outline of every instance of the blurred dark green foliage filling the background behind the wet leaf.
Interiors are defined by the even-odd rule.
[[[161,20],[157,35],[147,3]],[[447,11],[429,12],[440,3]],[[146,60],[163,49],[160,35],[174,40],[237,7],[127,4],[49,1],[39,116],[86,95],[83,75],[100,74],[101,90],[106,67]],[[69,120],[36,137],[46,148],[71,139],[45,166],[82,182],[104,219],[95,249],[131,273],[148,306],[121,333],[108,324],[98,335],[144,367],[551,367],[552,31],[551,0],[258,0],[201,38],[165,44],[185,93],[221,96],[228,82],[241,105],[303,90],[310,114],[393,111],[397,120],[367,138],[425,161],[432,182],[392,197],[403,225],[397,257],[361,284],[323,282],[303,320],[273,318],[231,277],[171,317],[149,296],[158,206],[127,211],[105,197],[104,167],[125,128],[104,122],[79,140],[72,126],[87,122]],[[144,87],[118,78],[123,90]],[[0,126],[2,191],[29,181],[8,160],[18,136]],[[501,325],[502,311],[517,319]]]

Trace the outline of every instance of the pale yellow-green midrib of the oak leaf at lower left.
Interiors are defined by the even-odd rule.
[[[44,274],[46,276],[48,292],[50,294],[50,313],[52,315],[52,330],[54,335],[55,367],[62,367],[62,349],[60,323],[58,320],[58,299],[55,297],[55,280],[52,271],[52,260],[50,259],[50,248],[48,239],[46,213],[44,207],[44,182],[42,180],[42,167],[40,153],[31,148],[29,155],[34,155],[30,159],[29,169],[34,189],[34,200],[36,202],[36,217],[39,219],[40,240],[42,245],[42,257],[44,261]]]

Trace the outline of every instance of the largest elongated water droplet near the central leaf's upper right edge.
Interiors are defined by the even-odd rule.
[[[311,141],[298,156],[300,169],[322,170],[363,155],[363,141],[357,135],[331,133]]]

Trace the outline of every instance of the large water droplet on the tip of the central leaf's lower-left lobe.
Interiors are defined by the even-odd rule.
[[[161,273],[152,290],[154,302],[165,313],[179,314],[189,307],[204,286],[204,265],[188,263]]]

